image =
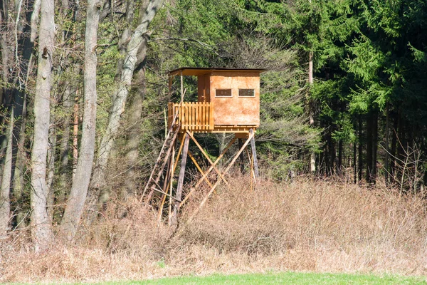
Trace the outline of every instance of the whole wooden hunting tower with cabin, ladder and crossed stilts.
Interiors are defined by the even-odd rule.
[[[159,220],[164,216],[164,204],[169,197],[169,203],[167,203],[169,204],[169,224],[176,225],[179,207],[202,182],[206,182],[211,190],[200,204],[200,207],[203,207],[204,202],[221,181],[228,186],[224,175],[238,157],[241,157],[241,161],[243,161],[244,150],[246,150],[250,162],[252,187],[258,177],[254,135],[260,125],[260,73],[263,71],[263,69],[179,68],[169,72],[169,94],[172,94],[174,77],[181,78],[181,101],[179,103],[171,102],[168,105],[169,133],[142,195],[144,198],[147,193],[145,202],[149,203],[156,196],[154,192],[160,194],[157,195],[159,203],[156,203],[159,204]],[[183,76],[197,77],[197,102],[184,102],[186,90],[184,90]],[[215,162],[212,162],[209,155],[194,138],[194,133],[234,133],[235,135]],[[211,165],[206,171],[201,170],[199,163],[189,152],[190,138]],[[242,139],[246,139],[246,142],[243,143]],[[181,141],[178,152],[175,151],[176,140]],[[225,170],[218,170],[216,166],[218,161],[236,140],[239,142],[238,152]],[[249,143],[251,143],[251,154],[247,148]],[[182,154],[181,167],[176,190],[173,190],[174,172],[180,154]],[[193,187],[190,187],[184,199],[181,199],[187,155],[201,172],[202,177]],[[212,170],[216,172],[214,184],[209,180],[209,173]]]

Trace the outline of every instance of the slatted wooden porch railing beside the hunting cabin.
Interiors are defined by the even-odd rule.
[[[214,130],[212,109],[212,103],[209,102],[169,103],[169,128],[178,113],[176,123],[181,123],[181,130]]]

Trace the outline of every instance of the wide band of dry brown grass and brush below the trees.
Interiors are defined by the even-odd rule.
[[[268,270],[427,273],[426,201],[385,187],[244,177],[172,235],[136,202],[115,203],[73,247],[34,254],[22,233],[0,244],[0,281],[103,281]],[[122,217],[127,211],[127,216]],[[19,237],[18,237],[19,236]]]

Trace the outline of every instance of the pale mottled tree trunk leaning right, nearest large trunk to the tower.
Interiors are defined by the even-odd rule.
[[[115,140],[115,136],[119,130],[120,118],[125,111],[127,95],[131,88],[132,76],[137,63],[137,53],[141,45],[145,43],[145,33],[152,22],[152,19],[157,14],[157,11],[162,6],[163,0],[150,0],[144,16],[140,18],[139,26],[130,37],[127,43],[125,61],[122,63],[122,73],[120,81],[117,83],[117,90],[113,95],[112,108],[108,118],[108,125],[105,134],[102,136],[100,146],[97,150],[97,162],[93,173],[93,187],[102,189],[105,187],[105,170],[110,157],[110,152]]]

